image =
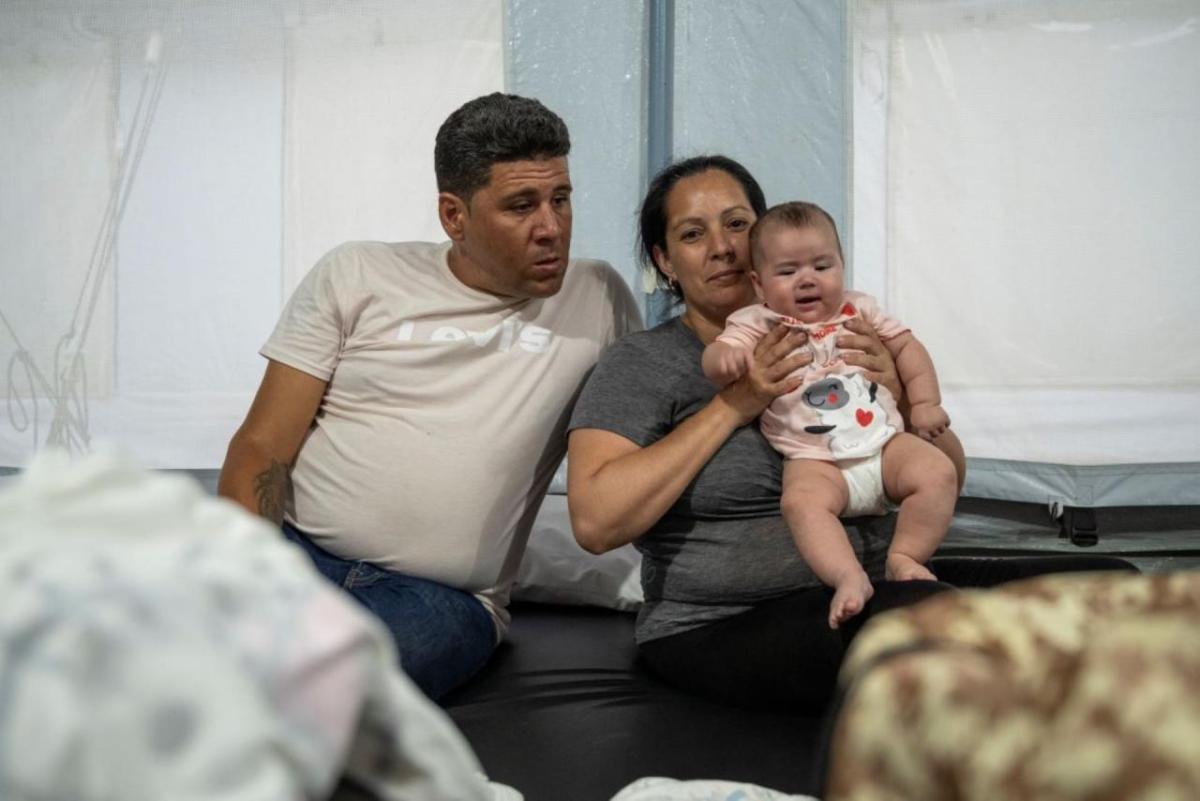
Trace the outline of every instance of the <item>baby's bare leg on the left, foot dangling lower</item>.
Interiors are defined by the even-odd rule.
[[[838,519],[847,499],[846,482],[835,465],[814,459],[784,462],[784,519],[804,561],[834,588],[830,628],[862,612],[875,592]]]

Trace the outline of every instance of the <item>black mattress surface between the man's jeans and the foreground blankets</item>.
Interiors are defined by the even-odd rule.
[[[487,775],[526,801],[607,801],[644,776],[815,794],[820,718],[746,711],[647,673],[634,615],[517,603],[484,671],[443,705]]]

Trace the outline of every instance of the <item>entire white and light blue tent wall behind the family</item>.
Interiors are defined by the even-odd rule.
[[[0,327],[0,469],[24,463],[56,410],[66,434],[118,439],[148,464],[216,468],[295,281],[343,239],[440,239],[432,132],[502,85],[571,128],[572,253],[640,289],[656,7],[0,6],[0,234],[12,243],[0,312],[29,355]],[[972,456],[968,494],[1200,504],[1200,336],[1184,313],[1200,289],[1200,2],[667,7],[671,152],[728,153],[769,201],[832,212],[852,283],[934,351]],[[161,56],[148,61],[155,32]],[[157,65],[161,102],[119,236],[107,271],[85,281]],[[430,74],[436,85],[413,79]],[[64,380],[70,363],[52,367],[83,289],[96,297],[86,403],[84,381]],[[1020,336],[995,335],[1014,323]]]

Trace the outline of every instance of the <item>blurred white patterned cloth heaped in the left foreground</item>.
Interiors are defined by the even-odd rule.
[[[384,630],[276,530],[113,452],[0,492],[0,797],[497,797]],[[502,797],[520,797],[508,795]]]

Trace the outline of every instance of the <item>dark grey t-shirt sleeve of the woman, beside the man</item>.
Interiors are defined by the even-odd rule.
[[[671,378],[642,347],[646,335],[613,344],[592,371],[571,412],[569,430],[600,428],[646,447],[671,430]]]

